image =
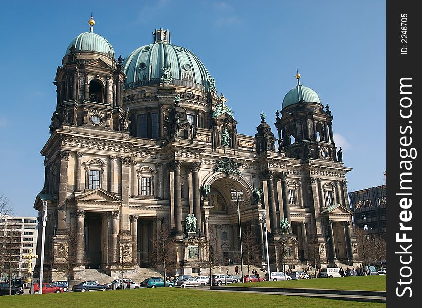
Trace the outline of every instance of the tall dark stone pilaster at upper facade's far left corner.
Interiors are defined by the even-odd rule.
[[[66,199],[67,199],[67,166],[69,164],[69,151],[59,150],[60,176],[58,194],[57,230],[66,231]]]

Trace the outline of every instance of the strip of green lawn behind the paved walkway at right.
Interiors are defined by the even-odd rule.
[[[260,287],[292,287],[319,288],[335,290],[374,290],[386,291],[386,275],[352,276],[342,278],[318,278],[290,281],[265,281],[250,283],[230,283],[227,286],[260,286]]]

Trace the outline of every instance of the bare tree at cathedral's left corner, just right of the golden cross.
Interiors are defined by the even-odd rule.
[[[75,228],[71,228],[69,231],[68,240],[65,243],[61,243],[58,246],[57,251],[57,261],[54,266],[58,269],[59,272],[66,273],[67,284],[70,285],[70,276],[72,269],[74,268],[76,262],[76,252],[77,252],[77,233]],[[54,249],[54,248],[52,248]],[[51,254],[55,252],[52,251]],[[69,292],[69,288],[67,288]]]

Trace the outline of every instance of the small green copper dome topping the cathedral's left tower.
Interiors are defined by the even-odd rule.
[[[114,49],[104,37],[93,32],[84,32],[75,37],[66,50],[70,54],[70,47],[75,46],[75,51],[95,51],[114,58]]]

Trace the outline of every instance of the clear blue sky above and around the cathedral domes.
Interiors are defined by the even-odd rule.
[[[2,5],[0,49],[0,193],[15,214],[36,215],[43,187],[40,150],[56,104],[52,84],[69,42],[89,31],[107,38],[116,57],[149,44],[163,27],[175,45],[194,52],[218,93],[254,135],[260,113],[274,113],[301,84],[331,107],[343,148],[348,191],[384,184],[386,170],[386,4],[384,1],[74,1]]]

